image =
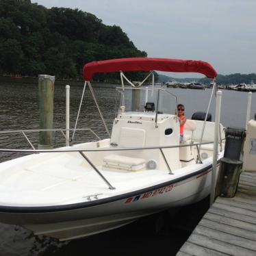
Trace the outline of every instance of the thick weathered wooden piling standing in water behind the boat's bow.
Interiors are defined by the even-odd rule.
[[[53,94],[55,77],[38,75],[40,129],[53,129]],[[53,131],[40,131],[38,149],[53,148]]]

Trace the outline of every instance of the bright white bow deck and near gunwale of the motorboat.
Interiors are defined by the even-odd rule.
[[[79,147],[83,147],[83,144]],[[85,154],[90,159],[90,153]],[[173,170],[174,175],[168,173],[166,166],[155,170],[106,170],[99,165],[100,162],[103,163],[102,156],[105,153],[97,154],[98,161],[94,164],[115,190],[108,188],[79,152],[41,153],[1,164],[0,205],[44,206],[81,203],[94,194],[99,194],[98,198],[103,199],[147,188],[193,172],[190,166]],[[200,168],[207,164],[209,159],[200,165]],[[198,164],[195,164],[194,171],[198,168]]]

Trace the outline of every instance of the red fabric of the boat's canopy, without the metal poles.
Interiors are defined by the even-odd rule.
[[[115,60],[101,60],[84,65],[83,77],[90,81],[95,73],[117,71],[167,71],[201,73],[208,78],[218,74],[211,64],[201,60],[176,60],[155,57],[129,57]]]

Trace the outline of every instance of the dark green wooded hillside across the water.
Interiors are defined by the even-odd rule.
[[[30,0],[0,0],[0,73],[81,78],[84,64],[146,57],[117,25],[78,9],[47,9]],[[98,74],[95,79],[116,79]],[[136,73],[133,79],[140,79]]]

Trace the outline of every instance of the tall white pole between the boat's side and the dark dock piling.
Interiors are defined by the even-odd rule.
[[[218,140],[219,140],[219,127],[220,127],[220,108],[221,108],[222,91],[218,90],[216,98],[216,110],[215,110],[215,125],[214,125],[214,153],[212,157],[212,187],[210,206],[214,203],[215,199],[215,181],[217,172],[217,160],[218,160]]]

